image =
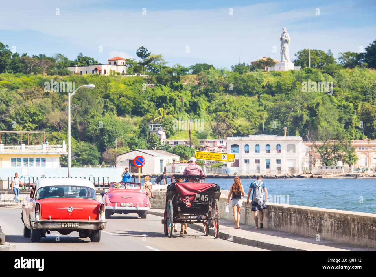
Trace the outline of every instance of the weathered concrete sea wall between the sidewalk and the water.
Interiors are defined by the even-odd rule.
[[[153,194],[152,208],[164,208],[165,191]],[[220,197],[220,218],[233,220],[232,212],[225,213],[226,195],[227,191],[223,191]],[[376,248],[376,214],[276,203],[267,203],[263,214],[264,227],[268,229]],[[255,226],[253,211],[245,199],[240,223]]]

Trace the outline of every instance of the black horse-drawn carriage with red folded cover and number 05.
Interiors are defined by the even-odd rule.
[[[220,187],[205,182],[205,169],[204,175],[174,174],[176,164],[178,163],[173,164],[173,179],[191,181],[173,182],[167,187],[164,219],[162,219],[165,235],[172,236],[174,223],[203,223],[205,236],[209,235],[209,228],[214,227],[214,237],[217,239]],[[203,166],[206,168],[206,164]],[[193,179],[195,182],[192,181]],[[203,182],[200,183],[199,180]]]

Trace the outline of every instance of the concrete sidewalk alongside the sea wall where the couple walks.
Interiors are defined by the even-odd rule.
[[[149,214],[163,217],[164,210],[151,209]],[[273,251],[376,251],[375,248],[352,245],[348,243],[334,242],[331,240],[316,241],[315,237],[301,236],[271,229],[253,229],[250,225],[240,224],[241,229],[235,230],[234,222],[220,219],[218,239],[232,239],[235,243],[259,247]],[[203,232],[202,223],[188,224],[188,227]],[[180,226],[177,226],[180,230]],[[214,234],[213,228],[209,235]],[[180,236],[173,233],[173,236]]]

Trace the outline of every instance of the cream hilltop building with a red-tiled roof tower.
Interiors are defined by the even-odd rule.
[[[108,64],[90,64],[88,66],[68,66],[73,74],[98,74],[111,75],[114,72],[125,75],[127,73],[127,61],[121,57],[114,57],[108,60]]]

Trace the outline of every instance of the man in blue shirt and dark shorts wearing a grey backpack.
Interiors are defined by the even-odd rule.
[[[251,205],[252,205],[251,210],[253,211],[253,218],[255,219],[255,224],[256,224],[255,229],[258,229],[257,211],[260,211],[260,229],[262,229],[264,228],[264,225],[262,224],[262,219],[264,218],[264,215],[262,214],[262,210],[265,209],[266,207],[265,202],[268,201],[268,191],[266,190],[266,186],[264,182],[262,182],[261,176],[257,176],[256,181],[253,181],[251,185],[249,186],[249,191],[247,195],[247,205],[249,205],[249,197],[251,195],[252,189],[253,189],[253,193],[252,193],[252,201],[251,201]]]

